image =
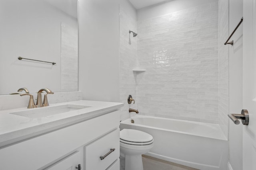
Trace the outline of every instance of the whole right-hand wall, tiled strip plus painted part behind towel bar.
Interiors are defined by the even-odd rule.
[[[224,42],[239,23],[242,9],[242,0],[219,0],[220,126],[229,139],[232,170],[242,170],[242,123],[235,125],[227,116],[242,109],[242,25],[230,39],[234,40],[233,46]]]

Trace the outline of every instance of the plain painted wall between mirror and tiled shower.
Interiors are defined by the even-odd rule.
[[[118,14],[118,0],[79,0],[78,87],[84,100],[119,101]]]

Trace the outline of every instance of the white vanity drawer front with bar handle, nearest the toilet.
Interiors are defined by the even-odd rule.
[[[119,129],[116,129],[97,141],[84,147],[85,170],[106,170],[116,159],[119,158]],[[104,156],[110,149],[115,149],[104,159],[100,159],[100,156]]]

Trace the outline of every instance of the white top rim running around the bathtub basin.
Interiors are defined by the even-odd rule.
[[[193,133],[189,133],[189,132],[183,132],[183,131],[176,131],[176,130],[171,130],[171,129],[164,129],[164,128],[160,128],[160,127],[153,127],[153,126],[148,126],[148,125],[141,125],[138,123],[131,123],[131,119],[134,118],[142,118],[142,117],[148,117],[148,118],[153,118],[153,119],[170,119],[172,121],[180,121],[180,122],[186,122],[186,123],[196,123],[199,125],[213,125],[218,127],[219,131],[222,133],[222,137],[210,137],[210,136],[204,136],[204,135],[198,135],[198,134],[193,134]],[[206,138],[210,138],[210,139],[216,139],[216,140],[222,140],[222,141],[228,141],[228,139],[226,138],[226,136],[224,135],[223,131],[220,128],[220,125],[218,124],[214,124],[214,123],[203,123],[203,122],[197,122],[197,121],[188,121],[188,120],[180,120],[180,119],[171,119],[171,118],[165,118],[165,117],[154,117],[154,116],[147,116],[147,115],[135,115],[132,116],[124,121],[121,121],[120,124],[126,124],[126,125],[134,125],[134,126],[139,126],[139,127],[147,127],[150,129],[158,129],[158,130],[164,130],[164,131],[171,131],[171,132],[175,132],[175,133],[182,133],[182,134],[186,134],[186,135],[192,135],[192,136],[198,136],[198,137],[206,137]]]

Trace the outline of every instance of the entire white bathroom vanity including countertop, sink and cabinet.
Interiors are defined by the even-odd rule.
[[[0,111],[0,169],[119,170],[122,106],[80,100]]]

